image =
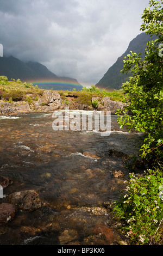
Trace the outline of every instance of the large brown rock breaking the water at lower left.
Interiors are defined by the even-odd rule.
[[[27,211],[33,211],[42,206],[39,192],[35,190],[25,190],[9,194],[8,202]]]

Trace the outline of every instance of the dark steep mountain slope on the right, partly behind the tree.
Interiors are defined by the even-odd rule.
[[[156,39],[156,37],[153,37],[152,39]],[[122,74],[121,70],[123,69],[123,60],[124,57],[127,56],[127,54],[130,53],[130,51],[136,52],[136,53],[142,53],[142,58],[145,57],[145,48],[147,47],[147,42],[152,40],[150,35],[147,35],[146,33],[141,33],[136,36],[130,43],[129,46],[122,54],[121,57],[117,59],[114,65],[112,65],[108,71],[105,73],[105,75],[102,77],[102,79],[96,84],[96,87],[98,88],[104,88],[108,90],[113,89],[120,89],[122,84],[129,80],[129,77],[131,76],[131,73],[128,72],[128,74]]]

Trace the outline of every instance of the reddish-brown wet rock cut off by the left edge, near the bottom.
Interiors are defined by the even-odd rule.
[[[0,224],[5,224],[15,217],[17,208],[15,205],[3,203],[0,204]]]

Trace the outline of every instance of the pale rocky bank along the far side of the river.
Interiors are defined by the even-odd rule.
[[[60,95],[61,94],[61,95]],[[78,109],[86,111],[110,111],[115,114],[117,109],[123,109],[125,104],[120,101],[113,101],[109,96],[93,96],[90,98],[89,93],[83,92],[84,97],[90,98],[91,103],[83,103],[79,94],[66,92],[63,96],[62,93],[54,92],[51,90],[43,90],[42,95],[36,96],[33,94],[26,94],[27,100],[21,101],[6,101],[0,100],[0,114],[1,115],[17,115],[19,113],[28,112],[53,112],[56,109]],[[93,102],[97,102],[96,107],[93,107]]]

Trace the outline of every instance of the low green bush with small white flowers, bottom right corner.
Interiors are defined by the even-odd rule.
[[[162,170],[148,169],[145,174],[142,177],[130,174],[126,193],[116,202],[113,212],[124,221],[123,230],[135,243],[163,245]]]

